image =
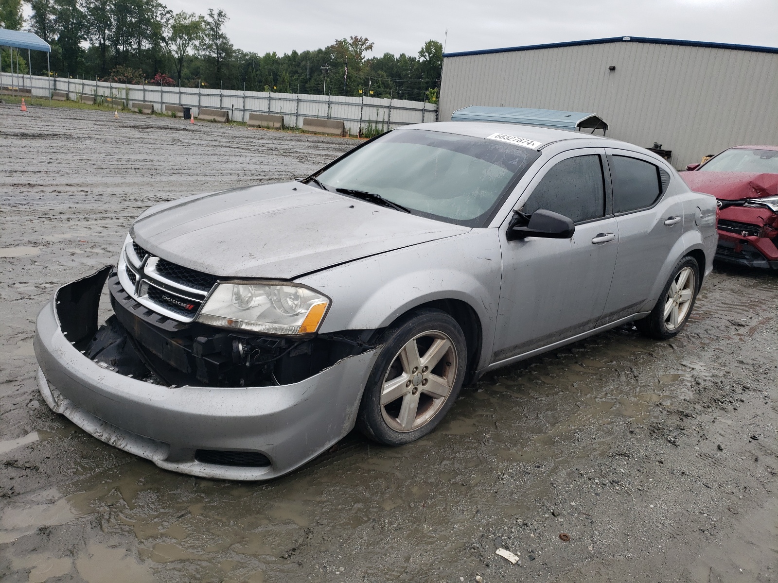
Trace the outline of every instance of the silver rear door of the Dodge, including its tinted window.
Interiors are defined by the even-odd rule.
[[[619,257],[600,325],[646,309],[657,276],[683,234],[683,201],[664,196],[670,174],[649,156],[605,151],[619,225]]]

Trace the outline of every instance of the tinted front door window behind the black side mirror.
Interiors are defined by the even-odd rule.
[[[604,216],[605,188],[600,156],[576,156],[557,162],[543,176],[521,211],[531,215],[540,208],[558,212],[573,222]]]

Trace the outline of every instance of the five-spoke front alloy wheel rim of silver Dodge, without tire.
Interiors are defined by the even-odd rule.
[[[394,431],[414,431],[446,403],[457,378],[454,342],[438,330],[408,340],[394,356],[381,387],[381,415]]]

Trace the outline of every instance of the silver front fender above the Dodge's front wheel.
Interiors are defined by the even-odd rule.
[[[408,310],[434,300],[465,302],[480,320],[482,358],[486,358],[494,337],[502,273],[497,237],[497,229],[473,229],[297,281],[332,298],[322,333],[383,328]]]

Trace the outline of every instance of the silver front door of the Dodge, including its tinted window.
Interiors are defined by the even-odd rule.
[[[605,150],[582,148],[550,159],[517,211],[539,208],[572,218],[572,239],[508,241],[500,230],[503,281],[492,362],[592,330],[602,316],[616,261]],[[507,221],[506,221],[507,222]]]

